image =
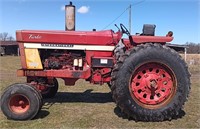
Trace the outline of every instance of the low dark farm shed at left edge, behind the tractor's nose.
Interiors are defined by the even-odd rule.
[[[19,47],[16,41],[0,41],[0,52],[3,55],[19,55]]]

